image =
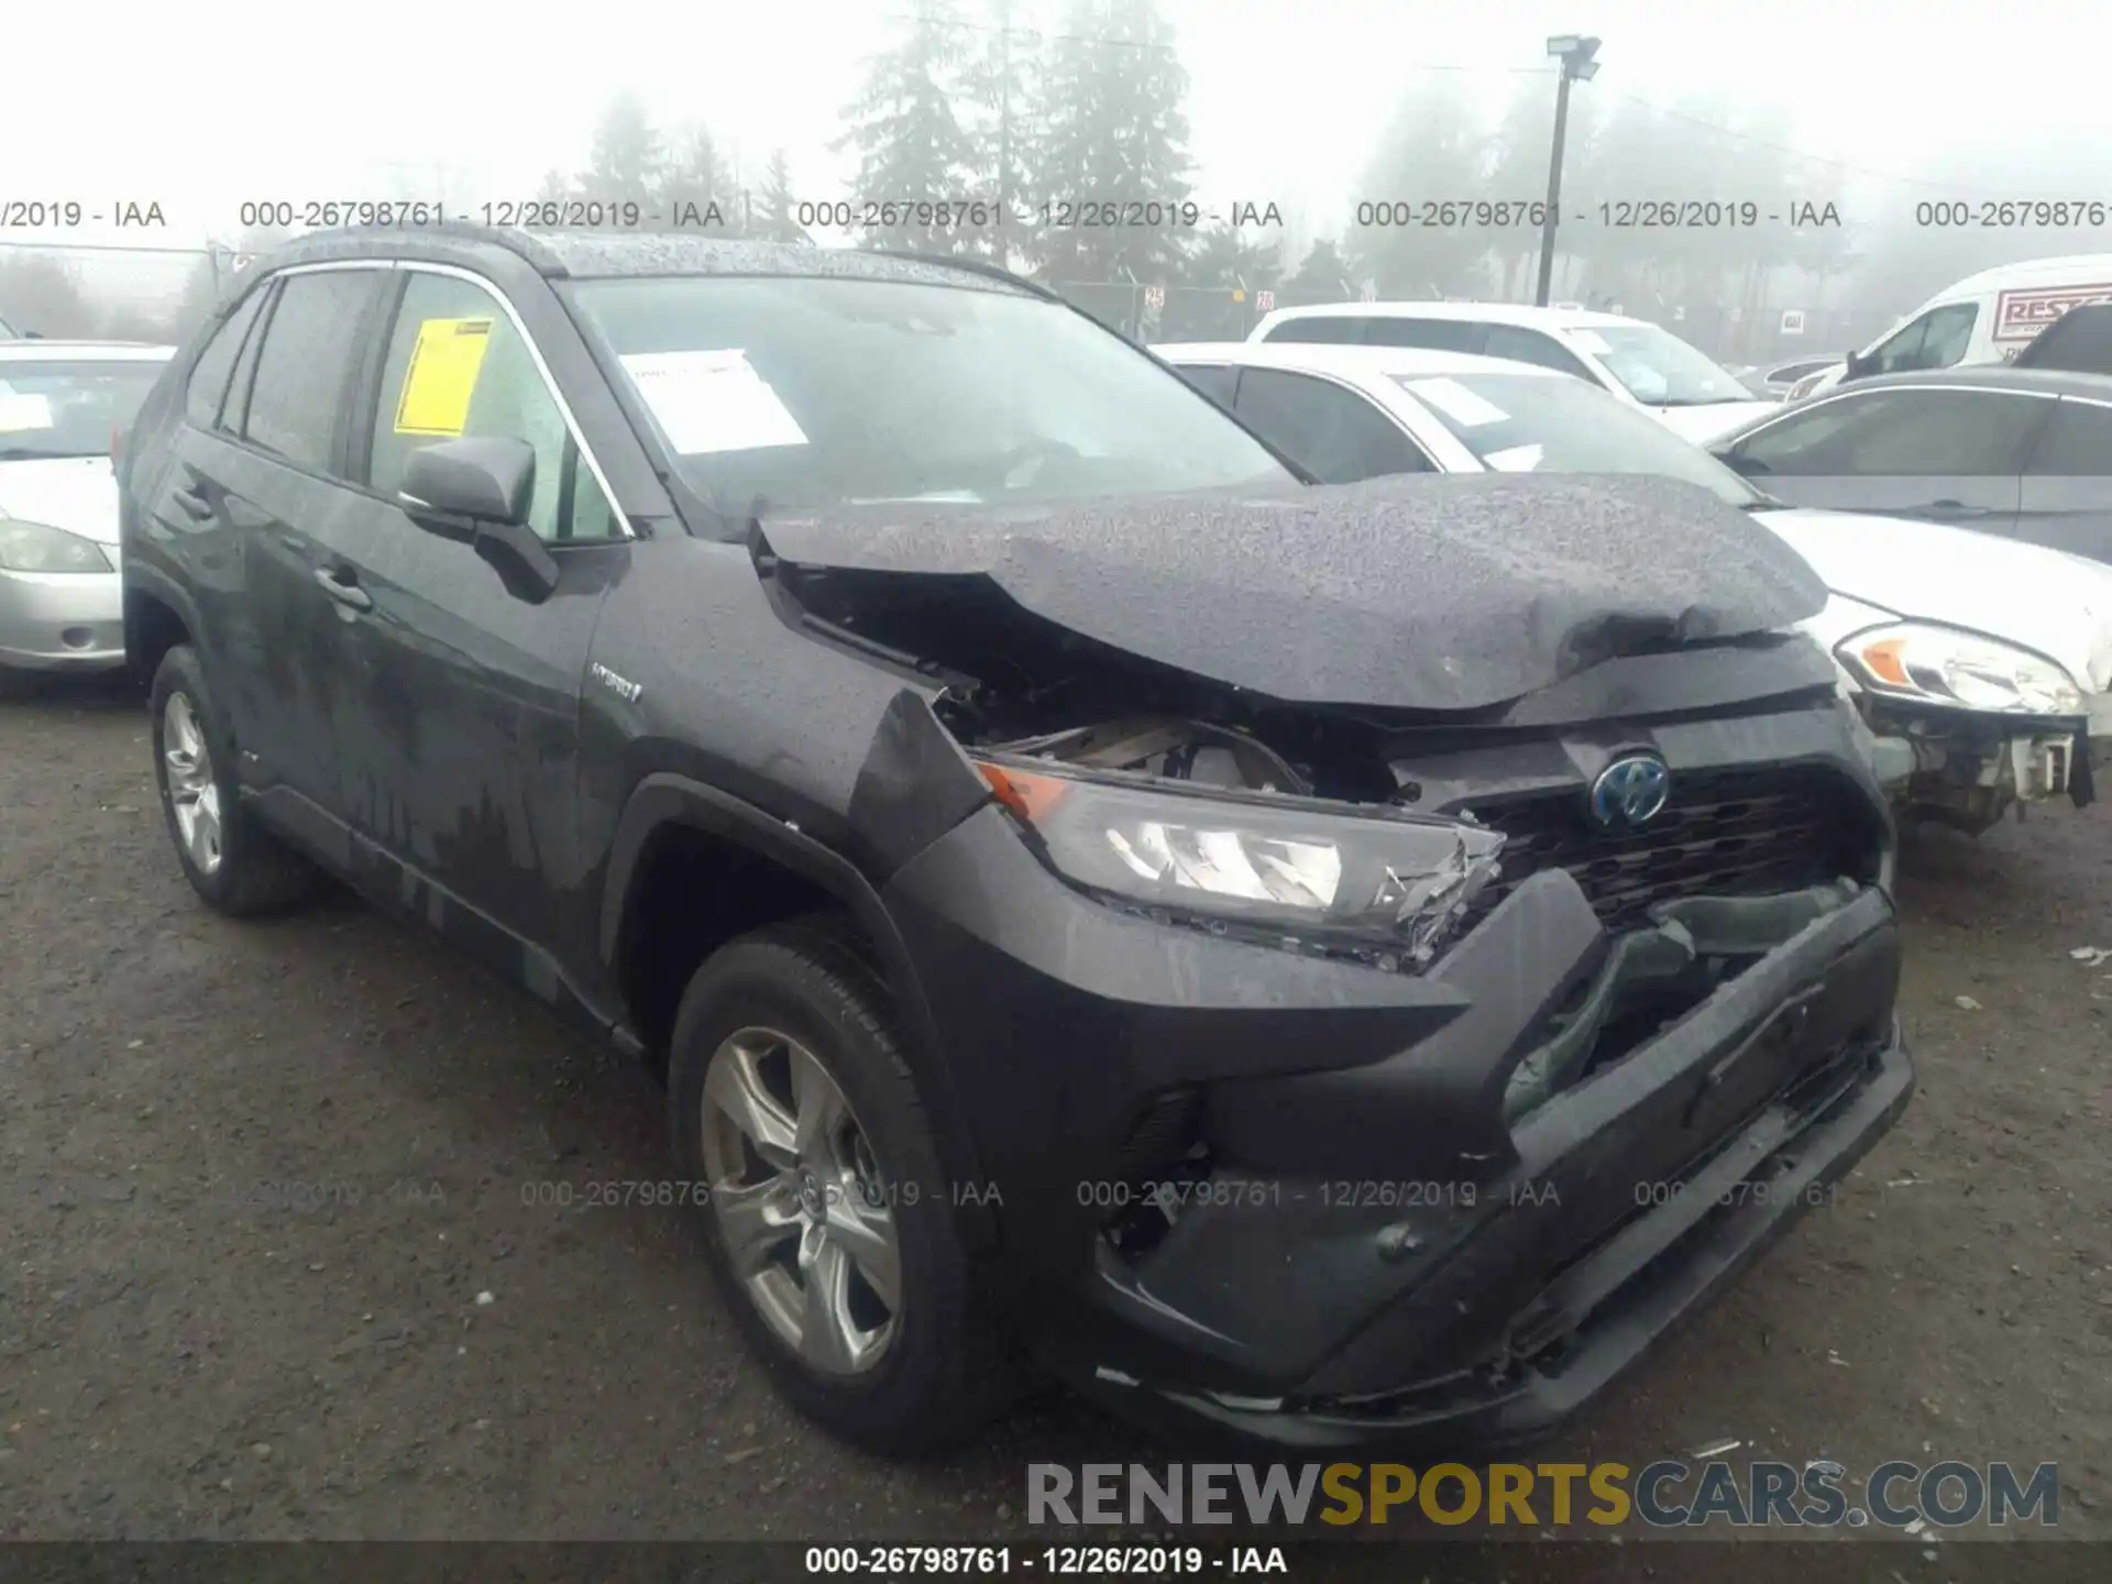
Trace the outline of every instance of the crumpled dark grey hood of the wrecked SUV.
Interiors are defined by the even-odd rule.
[[[800,566],[982,577],[1026,610],[1286,703],[1476,710],[1825,604],[1747,513],[1660,477],[1388,477],[771,520]]]

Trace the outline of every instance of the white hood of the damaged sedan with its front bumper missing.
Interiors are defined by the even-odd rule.
[[[2002,638],[2112,691],[2112,566],[1911,517],[1755,511],[1833,593]]]

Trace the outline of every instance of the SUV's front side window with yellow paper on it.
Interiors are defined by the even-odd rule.
[[[367,484],[393,501],[412,452],[465,437],[534,448],[528,526],[539,539],[617,532],[608,496],[581,465],[564,414],[498,300],[452,275],[414,272],[382,361]]]

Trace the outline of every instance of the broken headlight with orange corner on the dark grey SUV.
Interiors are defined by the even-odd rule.
[[[1497,874],[1504,836],[1453,819],[1305,798],[1267,803],[980,765],[1060,876],[1219,934],[1428,961]]]

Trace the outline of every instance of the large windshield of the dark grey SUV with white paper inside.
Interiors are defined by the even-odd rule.
[[[591,281],[682,475],[727,511],[1280,482],[1187,380],[1054,302],[864,279]]]

